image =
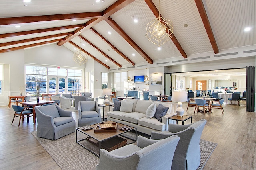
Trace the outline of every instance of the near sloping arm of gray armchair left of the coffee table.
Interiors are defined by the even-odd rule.
[[[44,114],[42,111],[40,111],[36,107],[35,107],[35,111],[36,111],[36,119],[37,119],[38,124],[40,124],[42,126],[56,127],[52,116]]]

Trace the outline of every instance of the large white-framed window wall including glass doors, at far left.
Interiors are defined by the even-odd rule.
[[[41,87],[40,92],[54,92],[56,88],[62,93],[79,94],[82,91],[82,70],[80,69],[25,66],[25,70],[26,93],[34,94],[37,85]]]

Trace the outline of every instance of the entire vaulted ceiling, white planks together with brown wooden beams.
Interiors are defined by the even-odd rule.
[[[120,68],[256,44],[255,0],[160,0],[160,7],[159,0],[1,0],[0,6],[0,53],[56,43]],[[159,10],[174,35],[160,50],[145,36]]]

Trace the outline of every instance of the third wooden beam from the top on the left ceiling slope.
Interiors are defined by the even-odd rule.
[[[36,38],[30,38],[30,39],[22,39],[22,40],[11,41],[11,42],[6,42],[6,43],[0,43],[0,47],[4,47],[4,46],[8,46],[8,45],[20,44],[20,43],[28,43],[28,42],[31,42],[31,41],[38,41],[38,40],[48,39],[48,38],[61,37],[61,36],[69,35],[69,34],[72,34],[72,32],[60,33],[60,34],[48,35],[48,36],[44,36],[44,37],[36,37]]]

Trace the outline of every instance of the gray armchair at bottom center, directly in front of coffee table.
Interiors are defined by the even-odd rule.
[[[177,135],[163,140],[138,136],[137,145],[125,145],[111,152],[100,149],[96,170],[170,170],[179,139]]]

